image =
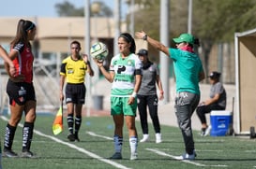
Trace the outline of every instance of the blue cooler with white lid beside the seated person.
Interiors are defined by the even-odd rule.
[[[232,112],[221,110],[211,111],[211,136],[225,136],[230,126],[233,126]]]

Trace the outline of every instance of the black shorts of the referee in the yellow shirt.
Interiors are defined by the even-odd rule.
[[[84,104],[86,88],[83,83],[71,84],[68,83],[66,86],[66,104]]]

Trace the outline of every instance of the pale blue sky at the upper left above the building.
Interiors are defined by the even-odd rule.
[[[54,5],[65,1],[75,7],[83,7],[85,4],[85,0],[5,0],[4,3],[1,3],[0,17],[57,17]],[[114,0],[98,1],[102,1],[113,8]],[[120,2],[124,2],[124,0]]]

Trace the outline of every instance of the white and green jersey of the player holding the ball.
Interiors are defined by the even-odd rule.
[[[114,72],[111,96],[129,97],[135,85],[135,75],[142,74],[142,62],[138,56],[131,53],[122,59],[115,55],[110,64],[110,71]]]

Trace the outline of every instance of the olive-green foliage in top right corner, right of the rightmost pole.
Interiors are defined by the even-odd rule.
[[[213,42],[233,41],[235,32],[256,27],[256,1],[194,0],[193,33]]]

